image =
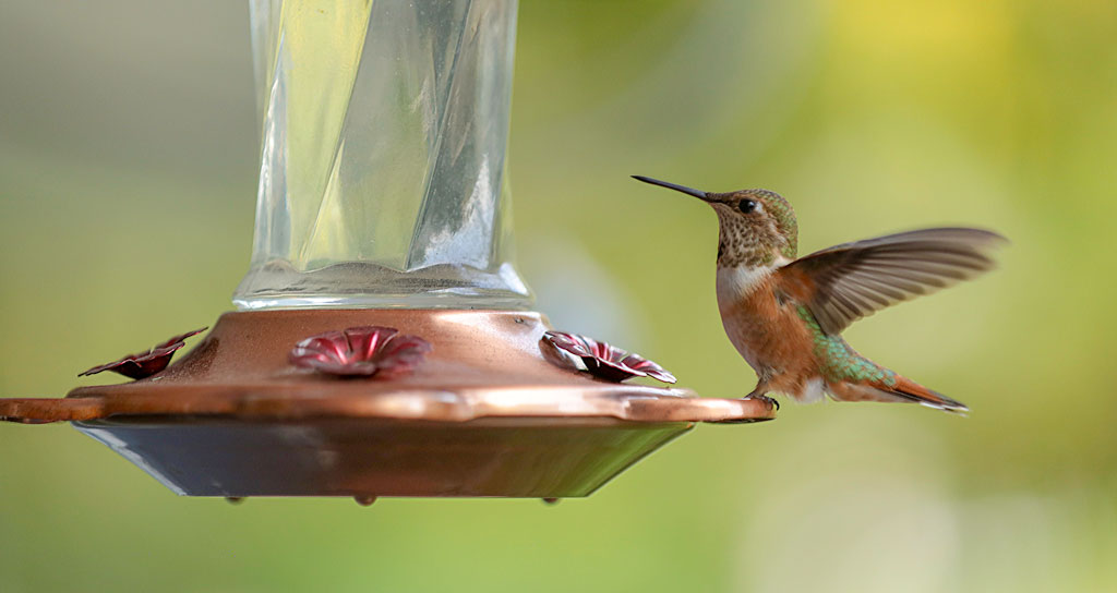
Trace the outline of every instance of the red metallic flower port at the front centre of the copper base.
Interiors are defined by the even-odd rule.
[[[311,336],[290,351],[295,366],[343,376],[384,376],[408,373],[431,345],[419,336],[399,335],[394,327],[350,327]]]

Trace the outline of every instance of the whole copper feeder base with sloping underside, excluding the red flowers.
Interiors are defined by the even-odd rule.
[[[407,376],[296,370],[306,336],[397,327],[433,345]],[[227,313],[152,377],[65,399],[0,400],[0,419],[70,421],[188,496],[586,496],[694,428],[775,418],[762,400],[696,398],[554,364],[536,313]]]

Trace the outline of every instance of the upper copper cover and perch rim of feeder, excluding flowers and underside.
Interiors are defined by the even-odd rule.
[[[314,333],[389,325],[433,344],[421,372],[352,382],[293,367],[292,346]],[[771,403],[696,398],[685,389],[619,384],[551,363],[545,319],[476,310],[277,310],[225,314],[183,358],[154,376],[85,386],[66,398],[0,400],[0,419],[88,421],[112,417],[240,420],[378,418],[467,422],[481,418],[612,418],[630,422],[752,422]]]

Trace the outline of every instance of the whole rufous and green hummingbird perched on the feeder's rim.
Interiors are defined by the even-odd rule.
[[[799,223],[768,190],[713,193],[642,175],[633,179],[698,198],[718,220],[717,307],[741,356],[756,371],[750,398],[785,394],[814,402],[910,402],[967,412],[861,356],[841,337],[861,317],[994,267],[1004,237],[973,228],[933,228],[838,245],[798,257]],[[773,402],[776,403],[776,402]]]

